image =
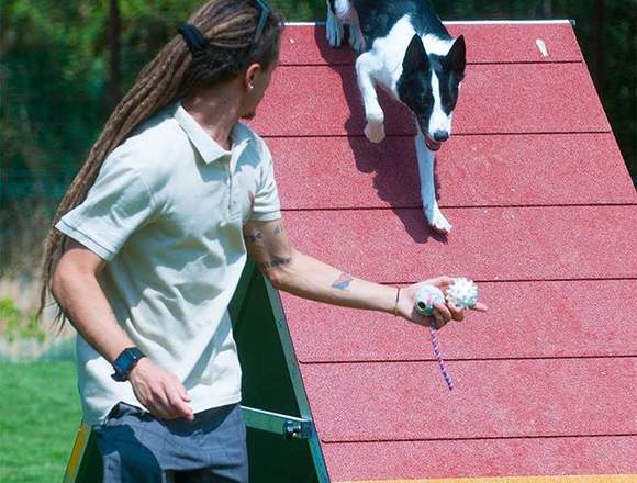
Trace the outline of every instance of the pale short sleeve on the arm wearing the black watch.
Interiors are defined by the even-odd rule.
[[[55,225],[107,261],[154,212],[146,183],[119,149],[102,165],[86,200]]]

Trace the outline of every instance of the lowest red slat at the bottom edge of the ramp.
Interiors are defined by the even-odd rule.
[[[543,474],[561,483],[552,475],[633,474],[627,483],[635,482],[636,447],[636,436],[610,436],[326,443],[323,451],[334,482],[361,475],[384,483],[396,475],[410,480]]]

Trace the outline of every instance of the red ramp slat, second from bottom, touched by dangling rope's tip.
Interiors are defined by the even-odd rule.
[[[436,362],[304,364],[321,440],[637,435],[637,358],[447,366],[452,392]]]

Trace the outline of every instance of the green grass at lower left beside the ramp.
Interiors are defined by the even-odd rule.
[[[80,418],[74,362],[0,363],[0,482],[62,482]]]

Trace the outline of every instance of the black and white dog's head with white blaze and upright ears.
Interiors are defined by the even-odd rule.
[[[446,55],[429,54],[414,35],[405,52],[398,82],[400,100],[416,116],[431,150],[438,150],[451,135],[451,116],[465,78],[467,53],[460,35]]]

